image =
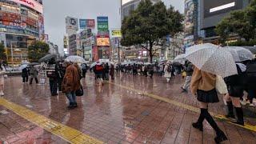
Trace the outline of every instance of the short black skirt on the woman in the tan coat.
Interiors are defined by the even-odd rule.
[[[206,103],[219,102],[217,91],[215,89],[210,91],[198,90],[198,101]]]

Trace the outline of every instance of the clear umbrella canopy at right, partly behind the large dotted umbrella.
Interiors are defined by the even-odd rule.
[[[254,59],[254,54],[240,46],[226,46],[223,50],[228,50],[232,54],[235,62],[243,62]]]

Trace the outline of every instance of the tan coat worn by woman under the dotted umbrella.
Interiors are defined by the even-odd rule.
[[[216,75],[210,74],[202,70],[194,68],[194,73],[191,78],[190,90],[192,94],[196,94],[197,90],[209,91],[213,90],[216,85]]]

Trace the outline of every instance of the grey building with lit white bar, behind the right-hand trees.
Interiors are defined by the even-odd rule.
[[[219,37],[214,31],[218,22],[249,3],[250,0],[185,0],[185,49],[200,42],[218,44]]]

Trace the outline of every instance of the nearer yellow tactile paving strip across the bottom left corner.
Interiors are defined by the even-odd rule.
[[[18,114],[27,121],[33,122],[35,125],[42,127],[44,130],[49,131],[51,134],[55,134],[58,137],[65,139],[70,143],[88,143],[88,144],[102,144],[103,142],[98,139],[92,138],[89,135],[83,134],[78,130],[74,130],[69,126],[65,126],[62,123],[55,122],[50,118],[46,118],[40,114],[35,113],[23,106],[19,106],[13,102],[7,101],[5,98],[0,98],[0,105],[5,106],[7,109]]]

